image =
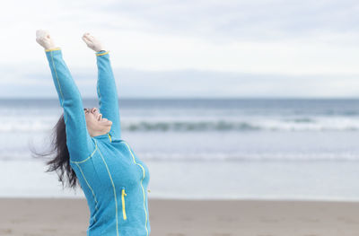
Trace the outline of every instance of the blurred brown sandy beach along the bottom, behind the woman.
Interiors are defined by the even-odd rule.
[[[86,235],[84,199],[1,198],[0,235]],[[154,236],[357,236],[359,203],[149,199]]]

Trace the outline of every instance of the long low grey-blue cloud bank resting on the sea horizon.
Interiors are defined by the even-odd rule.
[[[84,98],[94,98],[97,74],[72,70],[74,81]],[[241,74],[179,70],[168,72],[116,69],[120,98],[233,98],[233,97],[357,97],[359,74],[281,75]],[[0,84],[2,97],[57,97],[51,74],[26,74],[21,83]],[[28,81],[27,81],[28,80]]]

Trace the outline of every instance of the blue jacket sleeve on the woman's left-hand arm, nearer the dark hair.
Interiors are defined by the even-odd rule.
[[[86,127],[81,94],[62,57],[61,48],[45,50],[58,99],[64,109],[66,145],[70,161],[81,162],[95,149]]]

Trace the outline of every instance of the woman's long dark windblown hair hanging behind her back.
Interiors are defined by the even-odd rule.
[[[63,188],[65,185],[70,188],[76,188],[78,179],[70,165],[70,154],[66,145],[64,114],[61,115],[55,127],[52,128],[50,150],[44,153],[37,153],[35,150],[31,150],[31,152],[35,158],[50,157],[50,160],[46,162],[48,165],[46,172],[56,171],[58,181],[62,182]],[[53,154],[55,156],[51,157]]]

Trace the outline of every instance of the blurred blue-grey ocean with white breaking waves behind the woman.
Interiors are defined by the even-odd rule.
[[[118,102],[121,137],[150,170],[149,197],[359,200],[359,100]],[[0,100],[0,197],[83,197],[31,157],[61,113],[57,99]]]

